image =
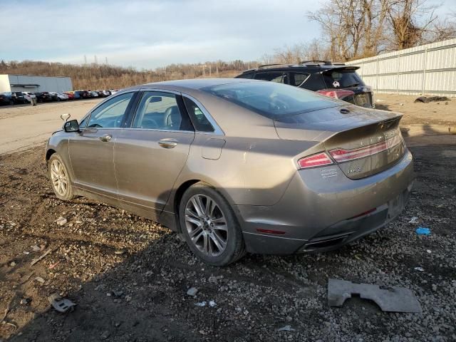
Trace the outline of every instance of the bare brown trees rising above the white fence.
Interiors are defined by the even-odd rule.
[[[437,7],[426,0],[326,0],[307,16],[320,24],[331,59],[348,61],[454,38],[455,19],[437,20]]]

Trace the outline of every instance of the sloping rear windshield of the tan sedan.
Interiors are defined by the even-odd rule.
[[[338,100],[309,90],[267,81],[229,83],[202,90],[268,118],[341,105]]]

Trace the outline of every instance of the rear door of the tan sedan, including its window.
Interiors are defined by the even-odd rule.
[[[180,93],[142,91],[130,127],[115,144],[120,205],[156,219],[187,161],[194,138]]]

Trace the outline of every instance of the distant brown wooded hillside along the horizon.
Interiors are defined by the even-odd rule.
[[[136,84],[167,81],[182,78],[233,77],[253,63],[242,61],[207,62],[202,64],[171,64],[155,70],[137,71],[107,64],[63,64],[43,61],[1,61],[0,74],[21,74],[38,76],[68,76],[73,89],[125,88]]]

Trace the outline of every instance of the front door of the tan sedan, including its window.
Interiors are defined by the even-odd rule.
[[[134,92],[123,93],[96,107],[81,133],[70,138],[74,184],[95,195],[117,198],[114,145],[122,131]]]

